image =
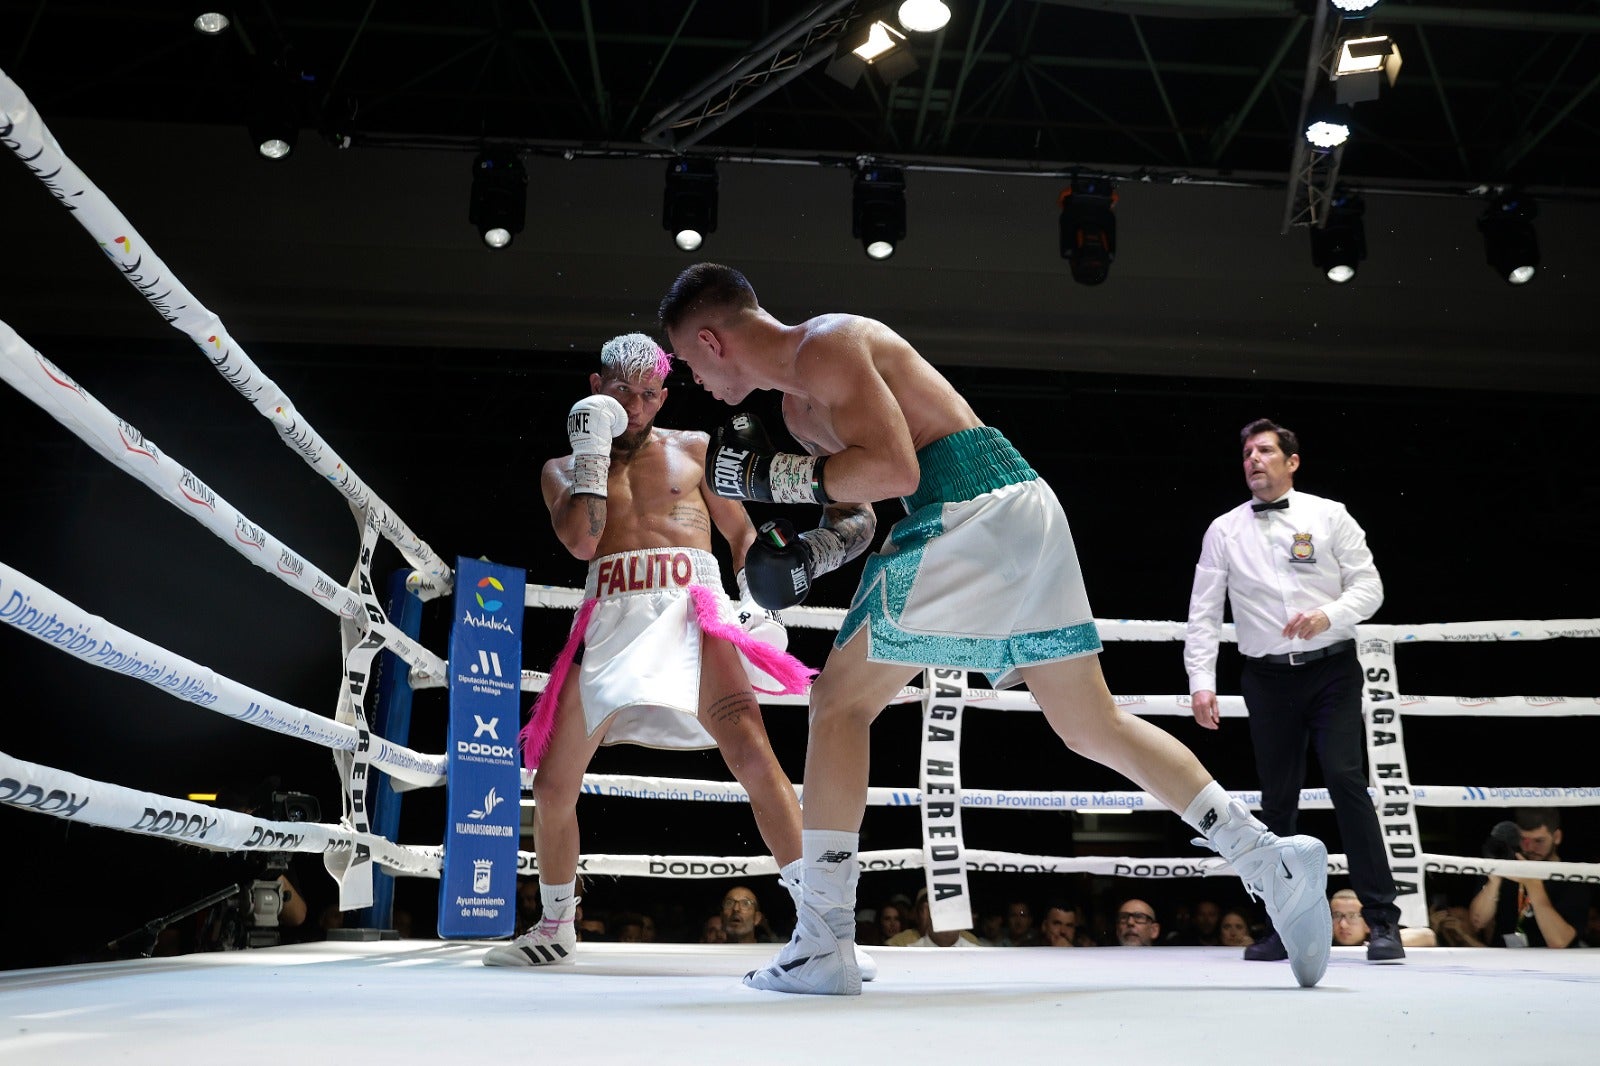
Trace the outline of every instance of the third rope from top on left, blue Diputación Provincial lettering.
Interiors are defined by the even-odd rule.
[[[142,680],[176,699],[186,699],[238,722],[336,751],[355,747],[357,736],[352,727],[275,699],[222,677],[194,659],[168,651],[88,613],[3,562],[0,562],[0,621],[91,666]],[[386,773],[414,786],[437,786],[445,781],[443,755],[421,755],[410,747],[376,738],[371,759]]]

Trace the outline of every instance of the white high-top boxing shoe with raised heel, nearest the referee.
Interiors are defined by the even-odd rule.
[[[1256,847],[1229,861],[1245,879],[1245,888],[1267,904],[1294,980],[1301,988],[1320,981],[1333,948],[1328,848],[1317,837],[1262,832]]]

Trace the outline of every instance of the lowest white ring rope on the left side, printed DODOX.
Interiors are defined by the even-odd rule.
[[[0,804],[66,821],[122,829],[229,852],[320,852],[371,848],[394,874],[437,877],[438,861],[373,834],[309,821],[272,821],[206,804],[141,792],[82,778],[0,752]]]

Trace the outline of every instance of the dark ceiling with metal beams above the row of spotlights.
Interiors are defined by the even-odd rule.
[[[509,139],[643,147],[651,120],[814,11],[883,5],[686,0],[0,3],[0,66],[56,118],[242,122],[259,67],[301,78],[307,126],[354,142]],[[818,66],[694,147],[1278,176],[1315,3],[950,0],[918,69],[850,90]],[[810,19],[824,21],[824,19]],[[1402,48],[1357,109],[1352,181],[1594,190],[1600,5],[1379,3]],[[1362,24],[1366,26],[1366,24]],[[779,50],[781,53],[782,50]],[[774,78],[776,80],[776,78]]]

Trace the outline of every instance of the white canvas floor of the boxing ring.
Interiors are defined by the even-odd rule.
[[[1336,948],[1312,989],[1230,948],[875,948],[859,999],[755,992],[771,944],[320,943],[0,975],[0,1061],[1590,1063],[1600,952]]]

